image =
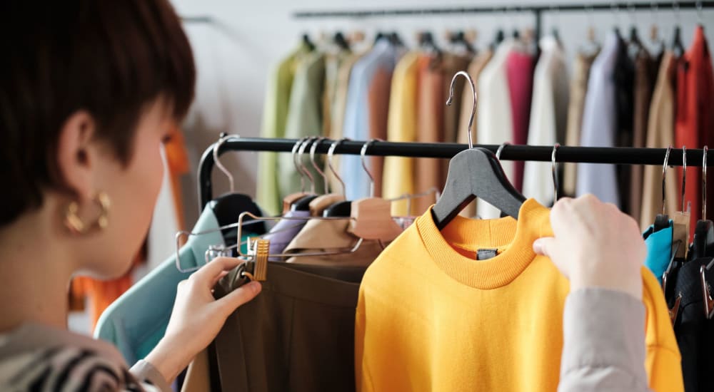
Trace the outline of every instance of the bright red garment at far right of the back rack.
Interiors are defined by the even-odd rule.
[[[694,32],[689,50],[678,62],[677,75],[677,120],[675,142],[681,148],[714,146],[714,72],[708,43],[702,26]],[[698,163],[701,165],[701,163]],[[701,217],[702,175],[700,167],[687,170],[685,203],[692,203],[692,228]],[[679,170],[682,181],[682,169]],[[714,180],[707,182],[707,195],[714,195]],[[714,197],[709,196],[707,210],[712,211]],[[685,204],[686,205],[686,204]],[[711,216],[710,212],[708,215]]]

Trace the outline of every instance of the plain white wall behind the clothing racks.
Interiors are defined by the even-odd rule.
[[[205,24],[186,24],[198,63],[198,91],[184,130],[191,148],[191,167],[198,167],[198,158],[203,150],[218,138],[218,133],[238,133],[243,136],[258,136],[261,125],[263,95],[266,78],[271,64],[291,50],[301,33],[316,36],[318,31],[363,31],[397,30],[405,39],[411,40],[419,29],[431,29],[441,36],[446,29],[475,28],[478,31],[478,47],[483,47],[493,38],[494,31],[503,27],[511,31],[515,27],[533,25],[531,14],[484,14],[461,16],[392,16],[376,19],[309,19],[291,18],[297,10],[348,10],[348,9],[391,9],[441,6],[503,6],[502,1],[451,0],[446,3],[426,0],[172,0],[181,16],[213,16],[223,28]],[[598,1],[600,3],[601,1]],[[538,0],[522,0],[514,6],[543,4]],[[569,3],[550,1],[546,4]],[[580,1],[584,6],[591,1]],[[649,4],[649,2],[645,2]],[[698,21],[694,10],[680,11],[685,45],[692,39],[693,29]],[[705,10],[701,14],[705,32],[714,39],[714,11]],[[571,55],[585,41],[586,31],[594,24],[600,41],[606,31],[615,24],[628,36],[630,25],[637,24],[640,37],[648,38],[650,26],[658,21],[660,36],[670,43],[673,25],[677,18],[673,11],[637,11],[630,13],[620,9],[613,11],[558,12],[544,15],[543,31],[558,26],[563,44]],[[236,178],[238,190],[254,194],[256,182],[256,153],[223,155],[223,160]],[[216,195],[227,190],[223,175],[214,170],[217,183]],[[187,220],[191,225],[197,213],[195,175],[185,185]]]

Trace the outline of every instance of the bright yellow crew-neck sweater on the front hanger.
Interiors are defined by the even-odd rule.
[[[367,269],[356,314],[358,391],[556,391],[568,281],[533,240],[551,235],[535,200],[519,220],[431,210]],[[476,260],[477,249],[498,249]],[[643,268],[650,388],[683,391],[680,354],[657,280]]]

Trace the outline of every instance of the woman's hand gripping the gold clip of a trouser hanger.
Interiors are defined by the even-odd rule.
[[[213,286],[241,260],[218,257],[178,284],[174,311],[164,339],[146,356],[171,383],[193,357],[211,344],[234,310],[253,299],[261,284],[251,282],[221,299],[213,298]]]

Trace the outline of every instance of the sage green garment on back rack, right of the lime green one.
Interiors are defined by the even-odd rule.
[[[288,119],[285,125],[285,137],[299,139],[306,136],[322,135],[322,98],[325,88],[325,55],[309,53],[300,61],[295,71],[293,88],[288,106]],[[316,180],[316,192],[323,191],[322,177],[310,163],[309,148],[303,155],[303,162]],[[321,162],[318,161],[318,165]],[[306,180],[306,191],[310,191],[310,183]],[[300,175],[298,175],[291,154],[281,154],[278,157],[278,188],[281,200],[286,195],[301,190]]]

